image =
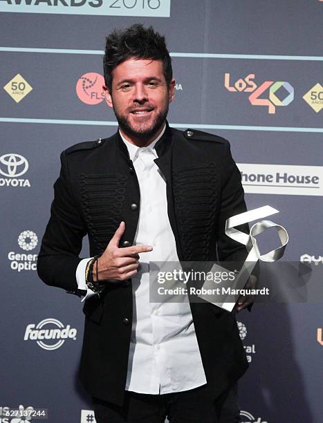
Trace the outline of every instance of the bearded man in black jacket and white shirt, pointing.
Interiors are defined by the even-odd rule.
[[[224,233],[246,211],[228,141],[169,128],[175,81],[153,28],[107,37],[104,79],[119,129],[63,151],[39,276],[85,295],[80,376],[98,423],[238,422],[247,362],[234,313],[149,303],[151,262],[246,258]]]

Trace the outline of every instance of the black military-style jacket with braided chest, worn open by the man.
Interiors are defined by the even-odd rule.
[[[241,176],[230,144],[201,131],[167,129],[156,143],[156,164],[167,181],[167,208],[180,261],[243,261],[243,245],[225,236],[225,220],[245,212]],[[77,292],[82,238],[91,256],[102,254],[120,221],[120,245],[132,245],[140,209],[133,163],[119,133],[82,142],[61,155],[55,198],[37,268],[48,285]],[[131,207],[136,204],[138,207]],[[243,228],[248,231],[248,226]],[[131,281],[107,283],[86,300],[80,377],[94,397],[122,404],[132,322]],[[191,303],[208,384],[220,395],[248,364],[234,315],[211,303]]]

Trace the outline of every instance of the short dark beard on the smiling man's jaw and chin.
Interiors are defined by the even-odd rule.
[[[136,124],[132,124],[128,115],[122,115],[114,106],[113,111],[118,120],[120,129],[122,129],[124,133],[126,133],[130,138],[140,138],[143,141],[146,141],[153,138],[161,126],[163,126],[167,118],[168,106],[169,104],[167,102],[153,120],[149,120],[149,122],[137,122]]]

